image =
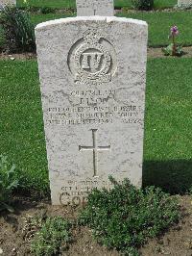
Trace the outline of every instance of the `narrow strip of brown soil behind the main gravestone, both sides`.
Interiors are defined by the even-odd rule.
[[[163,54],[161,48],[148,48],[148,58],[192,58],[192,46],[183,47],[184,54],[181,57],[167,57]],[[0,60],[34,60],[36,59],[35,53],[23,54],[4,54],[0,53]]]

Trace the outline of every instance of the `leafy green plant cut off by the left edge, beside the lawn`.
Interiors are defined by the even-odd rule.
[[[15,166],[10,167],[7,157],[0,155],[0,211],[13,212],[10,206],[12,191],[18,186]]]

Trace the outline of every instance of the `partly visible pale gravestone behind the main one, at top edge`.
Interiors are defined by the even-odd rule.
[[[78,16],[113,16],[113,0],[76,0]]]

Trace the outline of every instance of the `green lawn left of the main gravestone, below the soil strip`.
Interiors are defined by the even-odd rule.
[[[36,62],[0,62],[0,152],[23,183],[47,190],[47,160]]]

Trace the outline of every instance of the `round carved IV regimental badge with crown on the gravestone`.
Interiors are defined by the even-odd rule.
[[[116,71],[114,47],[96,29],[88,29],[71,47],[68,65],[76,84],[110,82]]]

